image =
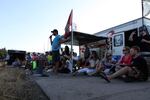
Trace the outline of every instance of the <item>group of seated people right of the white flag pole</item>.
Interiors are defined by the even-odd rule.
[[[91,55],[82,68],[73,73],[73,76],[83,73],[86,75],[98,75],[110,82],[114,78],[123,79],[126,82],[147,81],[149,69],[146,60],[140,55],[140,48],[133,46],[124,47],[122,57],[115,61],[111,52],[106,52],[103,59],[99,59],[96,51]]]

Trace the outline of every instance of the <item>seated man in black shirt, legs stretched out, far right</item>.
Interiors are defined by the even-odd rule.
[[[131,65],[125,66],[113,73],[112,75],[107,76],[105,73],[101,74],[101,77],[107,82],[110,82],[112,79],[119,77],[121,75],[126,75],[126,81],[147,81],[148,80],[148,66],[146,60],[139,54],[140,48],[138,46],[133,46],[130,49],[130,54],[133,57]]]

